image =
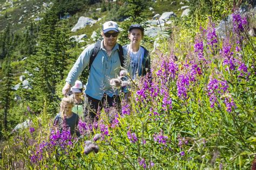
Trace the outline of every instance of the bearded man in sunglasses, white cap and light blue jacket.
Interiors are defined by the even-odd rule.
[[[117,104],[120,109],[118,90],[114,90],[110,86],[110,80],[116,78],[121,69],[119,46],[117,44],[118,33],[119,29],[116,22],[109,21],[103,24],[101,33],[103,40],[100,42],[99,51],[91,63],[85,88],[89,103],[89,110],[86,110],[85,115],[89,115],[92,119],[95,118],[98,111],[102,110],[104,103],[107,103],[106,107]],[[86,47],[78,57],[62,89],[64,96],[68,94],[70,87],[73,86],[83,69],[89,65],[95,46],[96,44],[92,44]]]

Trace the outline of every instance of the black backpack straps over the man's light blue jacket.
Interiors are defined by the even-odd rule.
[[[100,42],[101,41],[97,41],[95,47],[93,48],[92,54],[90,56],[90,62],[89,62],[89,72],[91,70],[91,66],[92,66],[92,62],[95,60],[99,49],[100,49]],[[119,59],[121,62],[121,67],[124,67],[124,52],[123,52],[123,47],[122,45],[118,44],[118,48],[119,48]]]

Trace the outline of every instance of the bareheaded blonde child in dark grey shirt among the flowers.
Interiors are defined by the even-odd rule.
[[[66,127],[70,128],[71,134],[76,132],[79,116],[72,112],[74,102],[75,100],[70,96],[62,98],[62,102],[60,103],[60,112],[53,122],[53,125],[58,126],[60,131],[62,131],[63,127],[66,125]]]

